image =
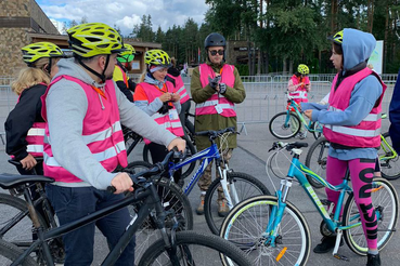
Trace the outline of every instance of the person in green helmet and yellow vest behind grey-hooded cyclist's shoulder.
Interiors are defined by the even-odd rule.
[[[136,50],[132,45],[125,43],[126,51],[117,56],[117,64],[114,68],[113,80],[117,83],[119,90],[127,96],[130,102],[133,102],[134,88],[137,84],[127,75],[132,70],[132,61],[134,58]]]

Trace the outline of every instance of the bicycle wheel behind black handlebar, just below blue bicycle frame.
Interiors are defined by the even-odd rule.
[[[183,194],[182,189],[172,181],[167,178],[160,178],[154,183],[157,187],[158,195],[162,200],[162,204],[166,211],[171,208],[175,210],[175,214],[180,222],[179,230],[193,229],[193,212],[192,205],[188,197]],[[172,203],[171,203],[172,202]],[[136,215],[140,208],[140,203],[130,205],[129,212],[132,216]],[[153,213],[154,214],[154,213]],[[168,229],[173,225],[170,217],[166,217],[166,227]],[[136,232],[137,245],[134,249],[134,262],[138,264],[145,250],[158,239],[158,230],[154,224],[152,216],[143,223],[140,229]]]

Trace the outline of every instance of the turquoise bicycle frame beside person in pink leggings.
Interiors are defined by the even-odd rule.
[[[301,154],[300,149],[293,149],[293,152],[295,155],[292,159],[292,163],[291,163],[291,168],[289,168],[288,173],[287,173],[287,177],[281,182],[281,187],[275,194],[276,198],[278,198],[278,207],[274,205],[274,207],[272,207],[272,210],[271,210],[271,217],[274,217],[274,218],[269,221],[266,232],[264,232],[264,235],[268,236],[267,237],[267,242],[269,242],[272,247],[275,247],[275,238],[278,236],[276,228],[279,228],[279,225],[282,221],[284,209],[286,207],[286,198],[287,198],[289,188],[292,187],[292,183],[295,178],[300,183],[301,187],[304,188],[304,190],[306,191],[308,197],[311,199],[312,203],[314,204],[314,207],[319,211],[321,217],[326,223],[327,228],[332,232],[337,232],[338,235],[341,235],[343,230],[347,230],[347,229],[350,229],[350,228],[353,228],[353,227],[357,227],[357,226],[361,226],[361,222],[356,222],[356,223],[349,224],[347,226],[341,226],[340,221],[339,221],[340,210],[341,210],[341,207],[344,204],[345,196],[346,196],[346,194],[350,194],[352,191],[352,189],[348,185],[348,183],[349,183],[349,171],[347,170],[346,177],[344,178],[344,181],[340,185],[333,186],[332,184],[327,183],[325,179],[320,177],[318,174],[312,172],[310,169],[308,169],[306,165],[304,165],[299,161],[299,155]],[[307,177],[305,176],[306,173],[308,175],[311,175],[313,178],[318,179],[321,184],[323,184],[328,189],[332,189],[332,190],[335,190],[335,191],[340,191],[339,199],[338,199],[337,205],[336,205],[336,211],[333,215],[333,218],[331,217],[330,213],[325,210],[323,203],[321,202],[321,200],[317,196],[314,189],[312,188],[312,186],[308,182]],[[379,218],[380,213],[376,212],[376,216],[377,216],[377,218]],[[360,214],[356,214],[352,217],[352,221],[358,221],[359,217],[360,217]],[[338,248],[338,245],[337,245],[337,248]],[[336,250],[336,247],[335,247],[335,250]],[[335,250],[334,250],[334,252],[335,252]]]

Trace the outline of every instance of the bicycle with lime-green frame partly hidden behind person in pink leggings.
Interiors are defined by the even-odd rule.
[[[315,169],[315,173],[322,177],[325,177],[327,151],[330,146],[330,142],[325,137],[320,137],[311,145],[306,157],[306,167]],[[380,135],[378,158],[382,177],[388,181],[393,181],[400,177],[399,155],[391,147],[389,132]],[[307,178],[314,188],[323,187],[321,183],[315,182],[311,176],[307,175]]]

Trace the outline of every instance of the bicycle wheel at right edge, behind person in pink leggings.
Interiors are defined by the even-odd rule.
[[[391,138],[389,132],[383,134],[386,142],[391,146]],[[384,143],[380,143],[380,149],[378,150],[378,157],[385,155],[386,157],[392,156],[390,150],[385,151]],[[392,148],[392,146],[390,147]],[[399,156],[393,159],[379,160],[382,177],[388,181],[395,181],[400,177],[400,161]]]

